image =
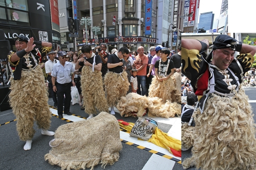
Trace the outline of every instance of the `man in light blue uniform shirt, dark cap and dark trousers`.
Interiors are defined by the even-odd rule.
[[[65,51],[58,52],[58,59],[60,62],[53,66],[52,70],[52,83],[53,91],[57,93],[58,98],[58,117],[63,118],[63,98],[65,94],[64,114],[72,115],[70,113],[71,102],[71,86],[75,86],[74,82],[74,68],[72,63],[67,62],[67,55]],[[57,82],[55,84],[55,77]]]

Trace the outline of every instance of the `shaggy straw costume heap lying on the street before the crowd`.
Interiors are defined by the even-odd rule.
[[[174,117],[175,114],[181,114],[181,105],[167,101],[162,102],[158,97],[146,97],[136,93],[129,93],[126,97],[121,97],[117,104],[117,109],[121,116],[134,116],[137,112],[137,117],[143,116],[145,109],[148,108],[149,117]]]

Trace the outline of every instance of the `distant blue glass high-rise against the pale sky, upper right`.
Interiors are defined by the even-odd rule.
[[[214,13],[200,13],[198,29],[210,30],[213,26]]]

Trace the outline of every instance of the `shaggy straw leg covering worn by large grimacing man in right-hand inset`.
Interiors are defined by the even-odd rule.
[[[183,168],[256,169],[255,123],[243,88],[231,98],[212,94],[204,112],[196,110],[193,117],[192,157],[183,161]]]

